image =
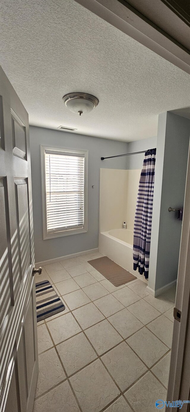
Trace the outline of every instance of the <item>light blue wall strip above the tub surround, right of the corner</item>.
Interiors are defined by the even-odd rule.
[[[128,143],[128,153],[141,152],[141,150],[154,149],[156,147],[157,136],[147,139],[136,140]],[[127,169],[141,169],[144,153],[127,156]]]

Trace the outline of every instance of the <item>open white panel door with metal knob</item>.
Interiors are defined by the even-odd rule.
[[[0,67],[0,412],[32,412],[38,373],[29,124]]]

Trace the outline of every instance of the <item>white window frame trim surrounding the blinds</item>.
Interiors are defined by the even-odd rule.
[[[75,155],[84,155],[84,227],[62,229],[57,232],[48,233],[47,231],[47,208],[46,208],[46,169],[45,153],[46,150],[51,152],[74,153]],[[53,239],[60,236],[70,236],[72,234],[88,232],[88,150],[68,149],[65,147],[47,147],[40,145],[41,152],[41,176],[42,176],[42,216],[43,216],[43,239]]]

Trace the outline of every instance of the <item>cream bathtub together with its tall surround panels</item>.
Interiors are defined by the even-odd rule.
[[[139,279],[144,276],[133,270],[132,245],[140,174],[141,169],[100,169],[99,223],[100,252]],[[122,229],[124,221],[127,229]]]

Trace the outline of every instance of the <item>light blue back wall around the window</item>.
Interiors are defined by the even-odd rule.
[[[43,240],[40,145],[89,150],[87,233]],[[126,157],[104,161],[101,161],[100,157],[127,153],[127,143],[30,126],[30,153],[35,261],[40,262],[97,248],[100,168],[127,168]],[[92,185],[95,185],[94,189]]]

